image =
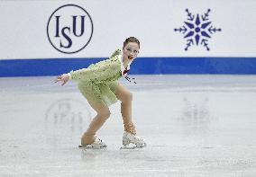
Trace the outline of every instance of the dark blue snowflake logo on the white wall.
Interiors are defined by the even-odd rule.
[[[178,29],[175,28],[174,31],[182,32],[185,36],[184,39],[187,39],[187,46],[185,50],[192,45],[203,45],[207,50],[210,50],[208,47],[208,40],[211,38],[211,34],[214,34],[217,31],[222,31],[220,28],[216,29],[211,25],[212,22],[209,21],[209,13],[210,9],[207,10],[206,13],[197,16],[195,14],[189,13],[188,9],[186,9],[187,13],[187,21],[185,24]]]

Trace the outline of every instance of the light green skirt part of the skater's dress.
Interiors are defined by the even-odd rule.
[[[117,102],[115,95],[117,85],[117,81],[109,83],[80,82],[78,83],[78,89],[87,98],[88,102],[110,106]]]

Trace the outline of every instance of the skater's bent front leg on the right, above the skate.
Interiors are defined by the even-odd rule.
[[[121,101],[124,130],[135,135],[136,129],[132,118],[133,93],[129,92],[122,84],[118,84],[115,94],[117,99]]]

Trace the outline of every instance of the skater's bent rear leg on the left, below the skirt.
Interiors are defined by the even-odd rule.
[[[87,146],[92,144],[96,139],[96,131],[103,126],[105,120],[110,117],[109,108],[105,104],[89,102],[91,107],[96,111],[96,117],[91,121],[87,131],[84,133],[81,144]]]

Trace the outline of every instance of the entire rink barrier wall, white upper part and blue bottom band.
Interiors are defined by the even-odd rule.
[[[131,74],[254,75],[255,7],[254,0],[2,0],[0,76],[87,67],[129,36],[141,40]]]

